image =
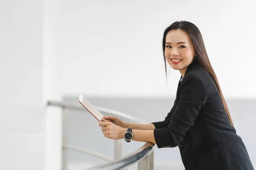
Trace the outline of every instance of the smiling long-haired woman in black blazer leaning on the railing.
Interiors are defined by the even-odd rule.
[[[163,34],[165,61],[179,70],[176,99],[162,122],[124,123],[104,116],[104,136],[180,148],[186,170],[253,170],[242,139],[236,135],[217,77],[198,28],[175,22]]]

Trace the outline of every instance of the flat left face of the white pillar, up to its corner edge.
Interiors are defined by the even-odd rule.
[[[43,1],[0,1],[0,170],[44,170]]]

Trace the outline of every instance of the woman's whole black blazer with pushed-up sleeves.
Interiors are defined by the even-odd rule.
[[[186,170],[253,170],[214,79],[195,59],[179,81],[172,110],[153,122],[158,148],[180,148]]]

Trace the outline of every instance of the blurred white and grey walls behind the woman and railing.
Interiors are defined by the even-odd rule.
[[[255,167],[255,0],[0,0],[0,170],[60,170],[61,108],[93,105],[145,122],[172,108],[179,71],[168,67],[162,38],[177,20],[198,26],[237,134]],[[67,111],[67,144],[113,157],[91,115]],[[122,142],[122,156],[143,145]],[[68,167],[101,161],[67,151]],[[156,170],[184,170],[179,149],[155,149]]]

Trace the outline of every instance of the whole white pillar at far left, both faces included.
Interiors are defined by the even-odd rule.
[[[0,170],[61,169],[58,0],[0,1]]]

